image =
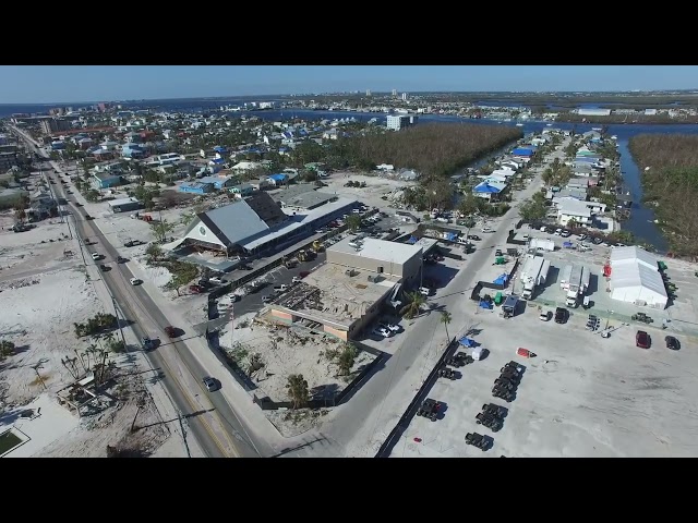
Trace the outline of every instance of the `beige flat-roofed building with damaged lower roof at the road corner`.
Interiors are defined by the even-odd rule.
[[[272,317],[347,341],[369,327],[405,284],[413,284],[421,269],[421,245],[345,239],[327,250],[325,265],[272,304]]]

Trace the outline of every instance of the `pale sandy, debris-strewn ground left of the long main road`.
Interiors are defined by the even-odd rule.
[[[0,430],[12,427],[25,435],[25,442],[8,457],[104,457],[108,445],[148,455],[168,439],[166,455],[186,455],[181,435],[170,437],[179,428],[163,423],[172,415],[158,390],[161,385],[142,374],[146,367],[140,354],[110,355],[118,374],[108,389],[115,401],[101,412],[79,418],[58,404],[53,393],[73,381],[61,358],[74,357],[92,343],[75,337],[73,324],[111,312],[111,302],[95,267],[86,271],[82,266],[65,224],[46,220],[13,233],[8,230],[13,221],[11,214],[0,217],[5,228],[0,232],[0,338],[16,348],[0,363]],[[88,272],[94,272],[91,279]],[[125,336],[128,343],[136,343],[128,329]],[[40,409],[40,415],[20,418],[17,413],[27,409]],[[136,411],[136,426],[144,428],[132,434]],[[192,447],[191,455],[198,455]]]

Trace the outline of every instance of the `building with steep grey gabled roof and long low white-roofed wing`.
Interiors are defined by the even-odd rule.
[[[249,255],[300,241],[329,221],[351,212],[357,202],[337,198],[320,207],[285,214],[266,193],[196,215],[179,247],[224,256]]]

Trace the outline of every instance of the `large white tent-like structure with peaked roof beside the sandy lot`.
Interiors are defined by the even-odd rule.
[[[611,297],[638,306],[666,308],[669,296],[657,258],[636,247],[615,247],[611,252]]]

